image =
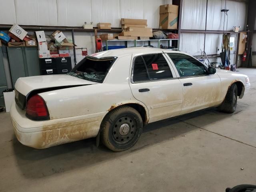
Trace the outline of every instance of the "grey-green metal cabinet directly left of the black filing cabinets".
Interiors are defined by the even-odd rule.
[[[40,75],[37,47],[7,47],[12,84],[20,77]]]

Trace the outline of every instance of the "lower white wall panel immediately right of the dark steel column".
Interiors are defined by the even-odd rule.
[[[202,33],[181,33],[180,51],[191,55],[201,55],[200,49],[204,50],[204,34]]]

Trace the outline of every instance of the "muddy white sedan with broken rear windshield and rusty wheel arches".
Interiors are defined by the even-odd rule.
[[[87,56],[65,75],[19,78],[10,114],[26,146],[97,137],[122,151],[148,123],[209,107],[232,113],[248,88],[248,76],[183,52],[125,48]]]

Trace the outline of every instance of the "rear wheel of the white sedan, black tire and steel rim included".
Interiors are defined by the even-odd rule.
[[[101,125],[102,143],[112,151],[124,151],[136,144],[143,122],[137,110],[121,106],[110,111]]]

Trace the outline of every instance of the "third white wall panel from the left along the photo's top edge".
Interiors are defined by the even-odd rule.
[[[91,0],[57,0],[58,26],[83,26],[90,23]]]

